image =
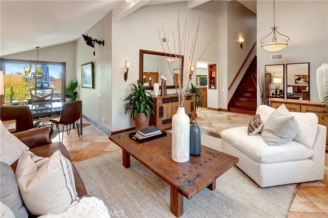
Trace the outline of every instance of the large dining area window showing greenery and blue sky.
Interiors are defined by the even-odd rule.
[[[53,100],[65,99],[62,87],[66,84],[66,62],[1,59],[1,69],[4,74],[23,74],[23,85],[13,86],[13,102],[30,99],[30,89],[35,88],[37,82],[49,83],[53,88]],[[31,78],[35,69],[45,75],[44,79]],[[5,101],[9,101],[11,86],[7,86],[5,92]]]

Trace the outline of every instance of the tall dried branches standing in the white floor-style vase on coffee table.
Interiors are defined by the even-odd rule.
[[[187,17],[185,20],[185,24],[183,25],[182,28],[180,28],[180,18],[179,18],[179,8],[178,8],[177,36],[174,34],[174,31],[172,31],[173,32],[174,52],[173,53],[171,52],[168,44],[166,44],[167,48],[165,48],[163,46],[163,43],[161,42],[161,46],[162,46],[163,52],[165,53],[166,57],[179,58],[179,61],[174,61],[174,63],[168,61],[169,69],[170,69],[173,80],[174,80],[173,69],[179,69],[178,70],[178,78],[181,78],[181,79],[179,79],[179,84],[175,84],[175,90],[178,95],[179,107],[184,107],[184,105],[185,105],[185,101],[186,101],[186,97],[187,97],[186,93],[188,92],[190,81],[192,79],[197,61],[201,58],[201,56],[204,54],[204,52],[207,50],[207,48],[210,46],[211,42],[214,39],[214,37],[213,37],[212,40],[210,41],[210,43],[208,44],[208,46],[206,47],[206,49],[204,49],[204,51],[201,53],[201,55],[197,59],[197,61],[195,63],[193,63],[195,46],[196,46],[196,42],[197,42],[197,38],[198,38],[199,24],[200,24],[200,16],[198,19],[198,24],[196,25],[193,40],[191,42],[191,45],[189,45],[189,26],[187,25]],[[165,30],[163,28],[163,24],[161,24],[161,26],[162,26],[162,31],[163,31],[162,33],[163,33],[164,37],[166,37]],[[158,36],[159,36],[159,39],[161,40],[159,29],[158,29]],[[174,54],[174,55],[172,55],[172,54]],[[181,56],[183,56],[183,58],[181,58]],[[183,59],[185,61],[183,61]],[[174,64],[176,64],[176,66],[173,66]]]

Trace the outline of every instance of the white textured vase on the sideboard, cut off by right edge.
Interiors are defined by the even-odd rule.
[[[328,94],[328,63],[322,63],[317,69],[316,77],[319,100],[322,101]]]

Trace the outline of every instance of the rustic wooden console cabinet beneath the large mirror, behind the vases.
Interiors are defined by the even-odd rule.
[[[153,96],[155,99],[154,115],[150,118],[151,125],[161,129],[172,127],[172,117],[178,111],[178,95],[169,94],[166,96]],[[196,105],[195,94],[187,94],[185,101],[185,111],[190,117],[190,122],[195,120]]]

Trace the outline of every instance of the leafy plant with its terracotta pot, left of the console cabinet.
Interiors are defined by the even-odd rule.
[[[149,126],[149,118],[154,114],[154,98],[146,92],[144,83],[137,80],[137,85],[132,85],[132,93],[123,101],[128,101],[124,106],[125,114],[131,111],[131,118],[135,122],[136,129]]]

